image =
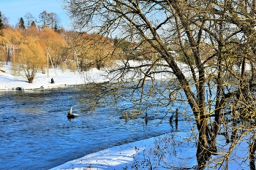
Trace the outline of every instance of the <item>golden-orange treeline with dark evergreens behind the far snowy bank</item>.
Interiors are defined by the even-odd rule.
[[[59,25],[59,17],[55,12],[46,11],[39,14],[39,22],[29,12],[26,13],[15,27],[8,24],[7,18],[0,11],[0,46],[2,62],[20,62],[23,48],[32,50],[33,46],[44,51],[39,58],[47,58],[46,51],[50,50],[53,62],[51,65],[63,68],[73,68],[76,65],[81,71],[91,67],[100,69],[111,65],[118,58],[150,59],[157,55],[148,44],[140,44],[138,47],[138,42],[118,37],[110,39],[97,34],[67,31]],[[46,62],[45,59],[40,61]]]

